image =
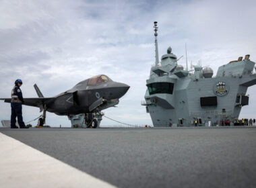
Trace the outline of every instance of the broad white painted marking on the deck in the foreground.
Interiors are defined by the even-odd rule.
[[[0,187],[115,186],[0,133]]]

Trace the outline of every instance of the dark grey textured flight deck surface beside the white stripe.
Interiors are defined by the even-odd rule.
[[[254,126],[0,132],[117,187],[256,187]]]

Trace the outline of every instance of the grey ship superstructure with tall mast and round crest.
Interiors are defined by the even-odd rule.
[[[223,120],[232,124],[249,104],[247,88],[256,84],[250,55],[220,66],[213,77],[212,68],[200,64],[191,71],[184,69],[170,47],[159,61],[156,21],[154,31],[156,62],[146,81],[146,101],[141,103],[154,126],[204,126],[209,122],[214,126]]]

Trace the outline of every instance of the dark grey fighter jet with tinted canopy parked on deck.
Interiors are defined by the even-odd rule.
[[[124,83],[112,81],[106,75],[97,75],[77,83],[71,89],[55,97],[44,97],[34,85],[38,98],[24,98],[24,105],[39,107],[43,111],[38,124],[45,124],[46,111],[57,115],[85,114],[86,126],[97,128],[98,122],[95,115],[108,107],[119,103],[119,99],[127,93],[129,86]],[[10,98],[1,98],[10,103]]]

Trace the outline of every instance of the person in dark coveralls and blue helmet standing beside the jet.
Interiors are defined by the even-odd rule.
[[[26,128],[22,118],[22,104],[24,99],[22,96],[22,80],[15,81],[15,86],[11,90],[11,128],[18,128],[16,124],[16,117],[18,118],[18,124],[20,128]]]

